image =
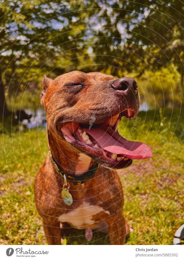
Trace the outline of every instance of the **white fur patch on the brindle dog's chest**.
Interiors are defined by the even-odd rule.
[[[68,213],[60,215],[59,221],[61,223],[67,222],[78,229],[88,228],[95,225],[93,216],[103,212],[110,215],[108,210],[104,210],[98,205],[90,205],[89,202],[83,202],[78,208],[68,210]]]

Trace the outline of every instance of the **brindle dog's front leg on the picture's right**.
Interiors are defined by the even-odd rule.
[[[127,235],[125,218],[122,213],[109,218],[109,240],[111,245],[124,245]]]

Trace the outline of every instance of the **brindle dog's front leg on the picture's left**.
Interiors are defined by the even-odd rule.
[[[60,223],[48,224],[43,220],[44,232],[49,245],[61,245]]]

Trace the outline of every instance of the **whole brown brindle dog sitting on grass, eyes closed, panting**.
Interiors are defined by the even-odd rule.
[[[129,225],[116,169],[152,156],[150,148],[118,134],[122,117],[136,117],[136,81],[100,72],[72,71],[42,81],[49,152],[35,180],[36,207],[48,244],[59,245],[73,228],[107,232],[110,244],[125,244]]]

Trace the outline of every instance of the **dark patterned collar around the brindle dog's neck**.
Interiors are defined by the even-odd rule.
[[[61,175],[61,177],[64,179],[64,175],[66,176],[67,181],[72,181],[72,183],[74,185],[80,185],[82,183],[87,182],[88,180],[92,179],[95,175],[95,172],[98,169],[98,163],[96,163],[94,161],[94,165],[93,168],[89,171],[86,171],[84,174],[80,175],[80,176],[74,176],[74,175],[70,175],[65,171],[62,171],[60,168],[60,165],[56,162],[56,160],[54,159],[50,148],[48,148],[49,151],[49,155],[50,155],[50,159],[52,162],[53,167],[56,169],[56,171]]]

